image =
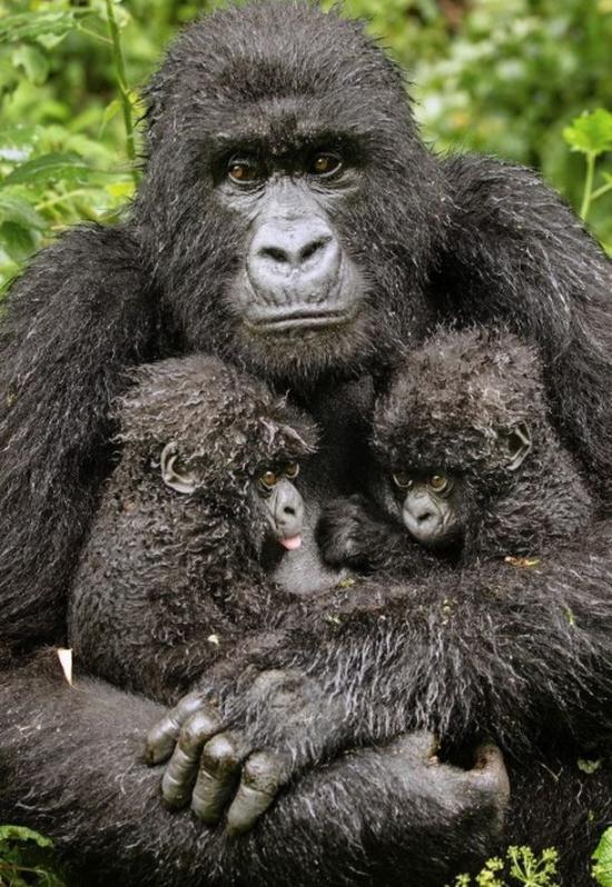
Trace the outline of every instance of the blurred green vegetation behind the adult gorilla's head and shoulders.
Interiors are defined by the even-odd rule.
[[[177,29],[219,4],[0,0],[0,288],[67,225],[120,218],[137,179],[138,90]],[[541,170],[612,245],[612,0],[344,9],[407,68],[436,150]]]

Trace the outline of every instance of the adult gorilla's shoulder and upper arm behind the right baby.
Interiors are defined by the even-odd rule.
[[[533,172],[470,156],[443,168],[451,211],[438,266],[442,315],[505,321],[539,342],[553,420],[610,505],[612,263]]]

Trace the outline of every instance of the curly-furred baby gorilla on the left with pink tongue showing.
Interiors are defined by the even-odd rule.
[[[140,368],[118,402],[122,456],[72,588],[75,661],[172,701],[233,641],[273,638],[270,538],[300,542],[298,461],[315,427],[265,385],[203,356]]]

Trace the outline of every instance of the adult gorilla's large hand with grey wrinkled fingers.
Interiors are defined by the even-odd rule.
[[[169,761],[161,781],[167,805],[185,807],[207,825],[227,808],[230,833],[247,831],[278,790],[316,757],[320,738],[342,722],[339,704],[313,679],[289,670],[263,671],[245,699],[228,698],[221,715],[207,691],[194,691],[149,731],[149,765]],[[244,730],[231,728],[246,722]]]

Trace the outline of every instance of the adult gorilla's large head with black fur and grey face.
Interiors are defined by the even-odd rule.
[[[215,12],[148,100],[137,213],[190,348],[304,386],[421,335],[440,171],[359,24],[303,2]]]

